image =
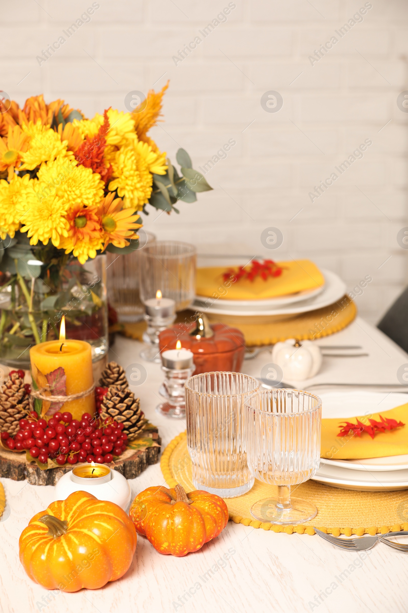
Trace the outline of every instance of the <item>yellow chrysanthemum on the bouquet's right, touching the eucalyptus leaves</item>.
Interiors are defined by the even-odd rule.
[[[124,199],[124,208],[140,211],[152,193],[152,173],[166,173],[166,153],[152,151],[147,143],[129,140],[117,151],[112,168],[116,178],[109,183],[110,191],[117,189]]]

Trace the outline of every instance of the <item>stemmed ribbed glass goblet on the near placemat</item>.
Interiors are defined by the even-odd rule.
[[[295,389],[260,390],[245,402],[247,462],[256,479],[278,486],[276,498],[253,504],[251,515],[272,524],[302,524],[317,508],[291,498],[291,485],[307,481],[320,461],[322,401]]]

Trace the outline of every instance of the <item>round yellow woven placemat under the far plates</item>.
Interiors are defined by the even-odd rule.
[[[241,330],[245,345],[275,345],[287,338],[313,340],[327,337],[351,324],[357,314],[354,302],[344,296],[328,307],[293,315],[220,315],[207,313],[209,321]]]

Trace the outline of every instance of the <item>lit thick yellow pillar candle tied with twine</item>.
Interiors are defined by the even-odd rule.
[[[45,387],[48,383],[46,375],[59,367],[64,368],[67,396],[84,392],[94,383],[91,345],[85,341],[61,338],[61,340],[34,345],[30,349],[30,362],[32,377],[39,388]],[[46,405],[50,406],[50,403],[43,400],[43,408],[46,408]],[[61,413],[69,411],[73,419],[79,421],[83,413],[90,413],[93,416],[95,413],[94,392],[83,398],[65,402],[58,410]]]

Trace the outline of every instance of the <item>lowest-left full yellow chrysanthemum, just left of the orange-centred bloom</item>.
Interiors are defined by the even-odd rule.
[[[61,236],[68,235],[69,224],[67,215],[68,204],[60,198],[48,197],[43,200],[37,199],[33,207],[24,213],[21,220],[25,225],[21,232],[27,232],[30,237],[30,245],[37,245],[40,241],[44,245],[51,242],[55,247],[59,246]]]

